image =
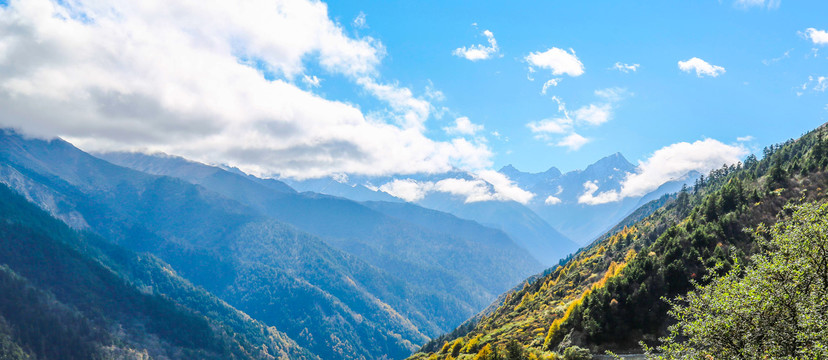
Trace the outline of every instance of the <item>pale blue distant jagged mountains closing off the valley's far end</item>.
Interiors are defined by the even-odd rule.
[[[538,261],[550,266],[609,230],[639,206],[661,195],[680,190],[682,185],[692,183],[699,175],[688,173],[640,197],[627,197],[605,204],[579,201],[586,191],[585,184],[594,184],[597,193],[620,190],[627,174],[635,170],[636,166],[620,153],[602,158],[584,170],[565,174],[555,167],[541,173],[527,173],[507,165],[499,173],[521,189],[534,194],[526,203],[508,199],[469,202],[464,196],[439,191],[429,192],[413,202],[501,229]],[[302,191],[356,201],[404,201],[383,192],[381,185],[395,180],[435,183],[447,179],[482,182],[494,191],[493,184],[459,170],[444,174],[397,177],[339,176],[301,181],[283,180]]]

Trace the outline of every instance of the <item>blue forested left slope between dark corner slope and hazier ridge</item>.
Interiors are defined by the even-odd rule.
[[[407,355],[441,304],[405,282],[204,188],[60,141],[0,137],[0,182],[77,228],[148,251],[323,358]],[[416,303],[418,299],[420,303]]]

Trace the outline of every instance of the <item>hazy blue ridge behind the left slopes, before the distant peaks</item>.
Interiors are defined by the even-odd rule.
[[[377,207],[344,198],[274,192],[260,183],[262,179],[182,158],[139,153],[98,156],[136,170],[199,184],[319,235],[334,247],[408,283],[431,289],[428,296],[409,300],[432,304],[428,297],[441,299],[443,310],[430,313],[429,319],[440,326],[439,331],[456,326],[497,294],[542,269],[531,255],[500,232],[460,234],[443,226],[456,218],[437,211],[430,211],[430,221],[412,222],[416,214],[428,212],[415,205],[397,207],[398,212],[388,216]]]

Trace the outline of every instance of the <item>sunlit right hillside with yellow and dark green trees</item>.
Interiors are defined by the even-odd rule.
[[[733,259],[748,261],[760,251],[749,228],[786,216],[786,203],[828,197],[826,137],[820,127],[766,149],[761,161],[750,156],[744,165],[714,170],[692,190],[655,200],[652,206],[664,205],[651,215],[634,213],[624,222],[631,226],[531,279],[454,340],[430,343],[414,358],[472,358],[511,341],[537,355],[573,345],[637,350],[640,340],[656,341],[670,322],[665,298],[704,281],[717,263],[726,271]]]

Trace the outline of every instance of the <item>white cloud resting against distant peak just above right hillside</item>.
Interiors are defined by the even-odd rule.
[[[735,164],[746,154],[747,150],[741,145],[727,145],[713,139],[672,144],[656,150],[647,160],[639,161],[635,173],[628,173],[624,178],[621,190],[596,194],[598,184],[585,183],[578,202],[597,205],[643,196],[668,181],[682,179],[691,171],[707,173],[723,164]]]

